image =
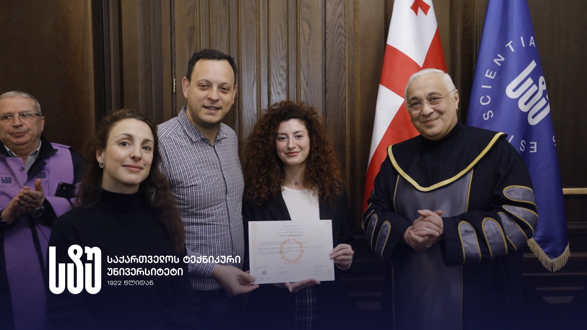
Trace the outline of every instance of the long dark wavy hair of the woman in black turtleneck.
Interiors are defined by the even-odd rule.
[[[86,171],[82,176],[79,184],[79,191],[76,198],[76,206],[89,207],[95,205],[100,200],[102,187],[103,170],[98,167],[96,160],[96,151],[106,149],[106,143],[110,131],[117,122],[124,119],[136,119],[149,125],[153,133],[153,162],[149,175],[140,183],[139,191],[144,194],[151,210],[155,211],[161,224],[167,228],[167,231],[173,240],[178,254],[184,251],[184,228],[181,224],[181,218],[176,208],[176,199],[171,193],[171,188],[167,183],[167,177],[159,170],[161,154],[159,153],[157,141],[157,127],[149,117],[134,112],[133,110],[123,109],[111,112],[109,115],[100,120],[95,136],[90,138],[84,148],[84,158],[86,161]]]

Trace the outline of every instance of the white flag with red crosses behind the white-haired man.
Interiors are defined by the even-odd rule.
[[[387,146],[418,134],[404,106],[404,89],[413,73],[427,68],[446,72],[432,0],[396,0],[377,94],[363,210],[387,156]]]

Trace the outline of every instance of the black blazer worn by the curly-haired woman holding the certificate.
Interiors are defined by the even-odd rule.
[[[350,232],[349,202],[344,188],[333,205],[319,203],[319,207],[321,220],[332,220],[333,248],[338,244],[349,244],[354,247],[355,241]],[[277,220],[291,221],[281,191],[262,205],[244,198],[242,201],[242,221],[245,226],[245,264],[243,270],[249,269],[248,222]],[[340,315],[341,311],[344,311],[344,309],[340,309],[340,306],[341,304],[344,306],[343,302],[345,301],[345,292],[340,280],[350,274],[354,264],[355,255],[353,255],[353,262],[348,270],[341,270],[335,265],[335,281],[324,281],[317,286],[320,298],[318,308],[321,314],[319,329],[326,325],[330,328],[338,323],[337,320],[346,319],[345,315]],[[283,329],[291,328],[292,324],[285,320],[293,320],[293,313],[295,313],[295,295],[287,289],[276,288],[271,284],[262,284],[260,288],[252,291],[249,295],[247,305],[247,315],[251,318],[249,323],[259,328],[270,329],[275,326],[274,321],[276,322],[276,320],[282,320],[280,327]]]

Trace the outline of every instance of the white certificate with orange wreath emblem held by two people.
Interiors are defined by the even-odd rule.
[[[332,221],[249,221],[255,284],[334,280]]]

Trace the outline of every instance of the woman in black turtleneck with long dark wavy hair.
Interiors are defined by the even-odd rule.
[[[197,306],[187,264],[183,261],[183,226],[167,180],[158,170],[156,127],[139,113],[120,110],[100,122],[91,144],[86,148],[88,167],[80,182],[77,207],[55,221],[49,250],[55,247],[55,261],[59,265],[73,263],[68,255],[71,245],[100,248],[101,288],[90,294],[85,281],[82,292],[72,294],[67,277],[60,285],[49,275],[50,326],[55,329],[194,328]],[[83,252],[82,263],[92,264],[92,270],[95,269],[95,261],[87,260]],[[179,262],[154,263],[139,259],[140,256],[147,260],[174,256]],[[137,259],[123,264],[109,263],[117,257]],[[88,267],[85,268],[87,271]],[[115,275],[109,268],[124,268],[130,273]],[[183,275],[134,274],[134,270],[150,272],[151,268],[174,269]],[[60,291],[56,287],[63,291],[53,293]]]

